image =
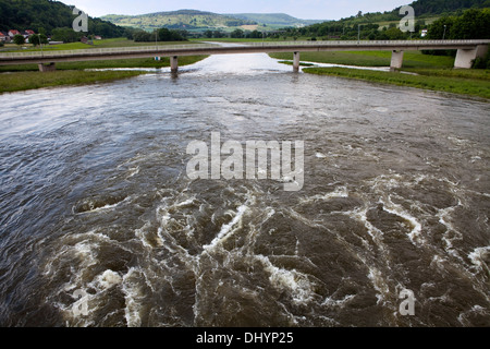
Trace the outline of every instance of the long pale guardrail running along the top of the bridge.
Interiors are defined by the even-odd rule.
[[[262,43],[241,43],[236,47],[376,47],[385,46],[387,48],[393,46],[405,47],[424,47],[424,46],[477,46],[489,45],[490,40],[327,40],[327,41],[262,41]],[[97,55],[118,55],[118,53],[138,53],[138,52],[161,52],[166,51],[193,51],[203,49],[221,48],[226,49],[230,47],[220,46],[216,44],[195,44],[195,45],[163,45],[163,46],[133,46],[133,47],[113,47],[113,48],[91,48],[81,50],[47,50],[47,51],[29,51],[29,52],[5,52],[0,55],[0,59],[16,59],[16,58],[62,58],[65,56],[97,56]]]

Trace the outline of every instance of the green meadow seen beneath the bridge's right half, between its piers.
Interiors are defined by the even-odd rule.
[[[293,59],[293,53],[270,53],[275,59]],[[357,67],[390,67],[391,51],[336,51],[302,52],[302,61]],[[452,68],[454,58],[446,56],[422,55],[419,51],[406,51],[403,68]]]

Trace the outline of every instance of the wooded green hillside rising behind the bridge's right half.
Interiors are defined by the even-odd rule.
[[[488,38],[490,36],[490,0],[417,0],[413,33],[399,29],[400,7],[387,12],[358,12],[347,19],[313,24],[301,28],[285,28],[285,37],[313,39],[401,40],[420,37],[428,39]]]

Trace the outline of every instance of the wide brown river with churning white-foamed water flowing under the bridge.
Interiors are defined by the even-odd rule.
[[[226,59],[0,96],[0,325],[489,326],[488,104]],[[211,132],[304,186],[191,180]]]

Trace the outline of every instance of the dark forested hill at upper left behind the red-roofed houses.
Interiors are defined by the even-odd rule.
[[[0,0],[0,31],[32,29],[38,33],[44,28],[47,34],[52,29],[72,27],[73,7],[52,0]],[[124,36],[125,29],[100,19],[89,17],[88,34],[103,37]]]

